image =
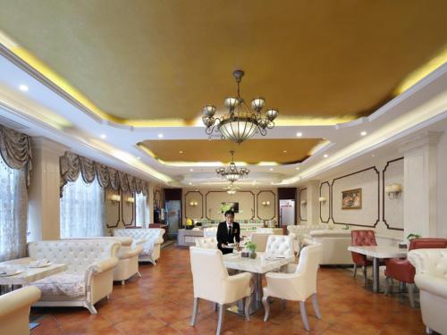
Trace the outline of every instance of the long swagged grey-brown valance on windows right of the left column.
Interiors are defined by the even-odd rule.
[[[60,157],[61,169],[61,197],[63,187],[67,182],[76,181],[80,174],[82,179],[91,183],[95,178],[103,188],[112,188],[122,190],[123,192],[137,192],[148,194],[148,181],[140,180],[130,174],[114,170],[104,164],[92,161],[89,158],[73,154],[69,151]]]

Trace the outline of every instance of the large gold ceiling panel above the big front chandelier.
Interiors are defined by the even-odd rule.
[[[23,49],[16,54],[37,57],[72,85],[65,90],[122,122],[223,109],[237,68],[246,71],[242,96],[264,96],[279,120],[349,120],[383,105],[447,42],[445,0],[0,0],[0,8],[0,29]]]

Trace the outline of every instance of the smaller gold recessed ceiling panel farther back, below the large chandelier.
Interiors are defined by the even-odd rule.
[[[305,160],[325,142],[322,138],[250,139],[237,145],[230,140],[219,139],[147,140],[139,143],[139,147],[164,163],[229,163],[230,151],[234,150],[235,162],[288,164]]]

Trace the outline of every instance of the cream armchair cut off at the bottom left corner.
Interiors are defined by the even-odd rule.
[[[0,296],[0,334],[30,334],[30,306],[40,298],[35,286]]]

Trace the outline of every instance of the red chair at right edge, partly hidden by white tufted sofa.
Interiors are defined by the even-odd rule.
[[[447,247],[447,239],[411,239],[409,250],[413,249],[433,249]],[[415,306],[414,288],[415,288],[415,268],[409,264],[407,259],[390,258],[385,261],[385,295],[392,290],[392,280],[405,283],[409,289],[409,304]]]

